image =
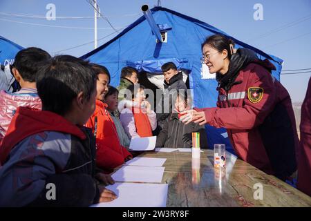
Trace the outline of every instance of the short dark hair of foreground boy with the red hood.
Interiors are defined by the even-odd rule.
[[[42,110],[64,115],[80,92],[86,101],[90,99],[95,90],[96,75],[88,61],[59,55],[39,69],[36,81]]]

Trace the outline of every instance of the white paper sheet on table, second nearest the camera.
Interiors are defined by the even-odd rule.
[[[161,182],[164,167],[122,166],[111,177],[117,182]]]

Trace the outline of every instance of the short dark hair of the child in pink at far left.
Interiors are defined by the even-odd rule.
[[[17,52],[13,66],[24,81],[35,82],[40,66],[50,58],[48,52],[41,48],[26,48]]]

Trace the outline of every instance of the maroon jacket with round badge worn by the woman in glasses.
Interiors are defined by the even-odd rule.
[[[202,108],[207,124],[227,128],[238,157],[281,179],[296,171],[299,139],[288,91],[274,66],[258,59],[238,71],[229,90],[218,87],[216,108]]]

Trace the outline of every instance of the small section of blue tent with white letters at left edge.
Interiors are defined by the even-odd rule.
[[[6,66],[6,64],[12,64],[15,55],[21,49],[23,49],[23,47],[0,36],[0,64],[3,66]]]

